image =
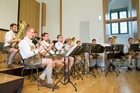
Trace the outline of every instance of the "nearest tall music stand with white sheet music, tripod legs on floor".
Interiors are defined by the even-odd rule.
[[[71,74],[70,74],[70,69],[69,69],[69,65],[70,65],[69,56],[72,55],[72,54],[74,54],[74,52],[76,52],[78,49],[79,49],[78,46],[73,47],[71,50],[69,50],[70,52],[68,51],[68,53],[64,56],[64,72],[63,72],[63,75],[62,75],[62,77],[57,81],[57,83],[54,85],[52,91],[54,91],[55,86],[56,86],[59,82],[61,82],[63,85],[66,85],[66,84],[68,84],[68,83],[71,83],[72,86],[75,88],[75,91],[77,91],[76,86],[75,86],[75,85],[71,82],[71,80],[70,80]],[[65,72],[65,69],[66,69],[66,68],[65,68],[66,58],[68,58],[68,75],[66,75],[66,72]],[[64,82],[61,81],[63,78],[64,78]],[[82,78],[82,79],[83,79],[83,78]],[[67,81],[66,81],[66,80],[67,80]]]

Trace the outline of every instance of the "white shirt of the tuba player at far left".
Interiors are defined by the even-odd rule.
[[[15,33],[12,30],[6,32],[6,34],[5,34],[5,44],[4,44],[4,47],[5,46],[10,46],[11,43],[8,43],[8,41],[11,40],[11,39],[14,39],[15,37],[16,37],[15,36]]]

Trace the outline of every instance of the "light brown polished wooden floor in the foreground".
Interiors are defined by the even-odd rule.
[[[77,92],[74,87],[69,83],[62,85],[60,82],[58,85],[60,89],[54,90],[40,86],[40,90],[37,88],[37,82],[32,81],[25,77],[24,88],[22,93],[140,93],[140,72],[130,71],[126,73],[126,69],[121,68],[121,73],[117,77],[114,72],[109,73],[105,77],[105,72],[96,73],[97,78],[83,76],[84,80],[71,81],[75,84]],[[57,82],[57,80],[54,80]]]

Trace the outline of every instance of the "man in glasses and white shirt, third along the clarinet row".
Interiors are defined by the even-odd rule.
[[[57,49],[56,54],[59,55],[59,59],[64,62],[64,54],[65,54],[65,46],[64,46],[64,41],[62,35],[57,36],[58,42],[55,43],[55,48]],[[71,69],[73,63],[74,63],[74,58],[69,57],[70,65],[68,66],[68,58],[65,60],[65,66],[66,66],[66,74],[68,73],[68,67]]]

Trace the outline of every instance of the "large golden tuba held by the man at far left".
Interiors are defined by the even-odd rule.
[[[16,37],[15,39],[23,39],[24,37],[24,31],[26,29],[26,27],[28,26],[28,24],[25,23],[25,21],[20,21],[19,22],[19,31],[18,33],[16,34]],[[15,42],[12,44],[12,47],[14,48],[18,48],[18,42]]]

